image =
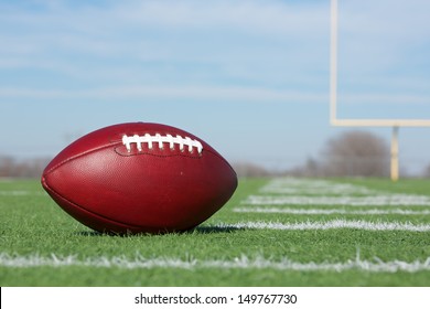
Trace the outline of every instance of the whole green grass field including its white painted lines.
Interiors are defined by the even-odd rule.
[[[240,179],[194,231],[108,236],[0,180],[0,286],[430,286],[430,180]]]

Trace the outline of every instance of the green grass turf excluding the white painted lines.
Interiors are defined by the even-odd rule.
[[[234,198],[194,231],[168,235],[109,236],[92,232],[64,213],[37,181],[0,181],[0,254],[10,257],[74,256],[76,260],[99,257],[133,260],[175,258],[181,260],[234,260],[246,256],[279,262],[345,263],[359,254],[363,260],[423,262],[430,257],[430,233],[407,231],[276,231],[221,228],[237,222],[326,222],[334,219],[372,222],[429,224],[430,215],[292,215],[238,213],[250,194],[270,179],[241,179]],[[380,192],[430,195],[430,180],[381,179],[333,180]],[[15,192],[7,194],[1,192]],[[21,192],[21,193],[20,193]],[[23,193],[25,192],[25,193]],[[266,194],[266,193],[264,193]],[[311,207],[301,205],[300,207]],[[312,206],[315,207],[315,206]],[[321,209],[333,209],[321,205]],[[347,209],[348,205],[338,206]],[[394,206],[391,206],[393,209]],[[355,206],[354,210],[365,210]],[[390,207],[386,207],[390,209]],[[424,210],[424,206],[407,206]],[[427,207],[430,209],[430,207]],[[11,267],[0,265],[0,286],[429,286],[430,271],[279,270],[275,268],[174,267],[133,268],[90,266]]]

